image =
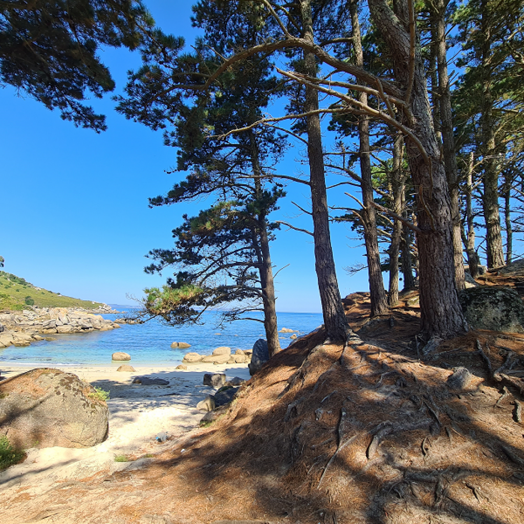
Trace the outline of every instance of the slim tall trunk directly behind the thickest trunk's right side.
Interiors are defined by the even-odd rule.
[[[455,261],[455,285],[457,289],[465,288],[464,262],[462,259],[461,222],[459,204],[459,175],[453,137],[453,116],[451,113],[450,79],[447,74],[446,24],[445,13],[448,0],[435,0],[433,14],[438,69],[438,93],[440,129],[442,134],[442,155],[446,171],[447,185],[450,190],[451,218],[453,223],[453,249]]]

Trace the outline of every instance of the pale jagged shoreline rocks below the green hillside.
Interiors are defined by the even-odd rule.
[[[111,308],[110,308],[111,310]],[[34,308],[21,313],[0,313],[0,348],[27,346],[41,335],[108,331],[119,324],[77,308]],[[46,340],[47,339],[46,337]],[[50,339],[52,340],[52,339]]]

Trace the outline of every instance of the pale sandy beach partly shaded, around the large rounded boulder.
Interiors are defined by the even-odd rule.
[[[116,471],[136,469],[172,445],[173,440],[198,426],[204,412],[196,410],[196,404],[214,392],[202,384],[205,373],[225,373],[227,380],[233,377],[249,379],[246,364],[188,365],[187,370],[134,365],[135,373],[117,372],[118,365],[53,366],[110,391],[108,438],[85,449],[26,450],[27,459],[23,463],[0,472],[0,489],[30,486],[28,493],[37,494],[56,482],[75,481],[100,472],[111,475]],[[35,367],[46,366],[2,366],[2,377],[9,378]],[[169,380],[169,385],[132,384],[137,376],[163,378]],[[159,443],[156,437],[163,432],[167,440]],[[128,461],[117,462],[115,457]]]

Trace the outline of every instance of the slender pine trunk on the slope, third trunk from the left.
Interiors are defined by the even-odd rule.
[[[357,0],[350,1],[351,23],[353,26],[353,49],[355,63],[364,67],[364,52],[362,49],[361,30],[358,22]],[[360,83],[360,82],[359,82]],[[367,94],[362,92],[358,96],[359,102],[367,105]],[[369,116],[358,117],[358,138],[360,144],[361,188],[362,203],[364,204],[364,243],[366,245],[367,270],[369,276],[369,294],[371,298],[371,316],[380,315],[388,311],[382,269],[380,268],[380,251],[378,248],[377,220],[373,202],[373,184],[371,159],[369,155]],[[397,286],[398,287],[398,286]]]

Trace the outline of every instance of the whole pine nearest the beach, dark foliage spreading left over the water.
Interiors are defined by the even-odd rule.
[[[220,65],[215,52],[222,54],[238,40],[249,41],[253,31],[244,14],[230,13],[226,25],[234,27],[235,37],[224,41],[226,33],[218,28],[226,17],[216,19],[216,6],[199,3],[194,13],[205,29],[195,52],[180,53],[182,40],[157,31],[144,67],[132,75],[127,97],[119,104],[127,117],[165,128],[166,145],[179,148],[177,171],[190,171],[166,196],[150,199],[150,205],[215,199],[198,216],[184,216],[183,225],[173,230],[174,249],[150,252],[156,262],[146,271],[174,266],[178,273],[163,291],[146,290],[145,305],[170,323],[182,323],[198,321],[204,309],[224,304],[233,308],[224,319],[245,319],[260,310],[261,303],[272,355],[280,344],[269,243],[278,224],[268,215],[283,191],[272,179],[270,165],[281,155],[285,140],[272,128],[224,135],[258,121],[280,88],[269,75],[268,60],[253,56],[235,64],[220,84],[199,91],[202,78]]]

